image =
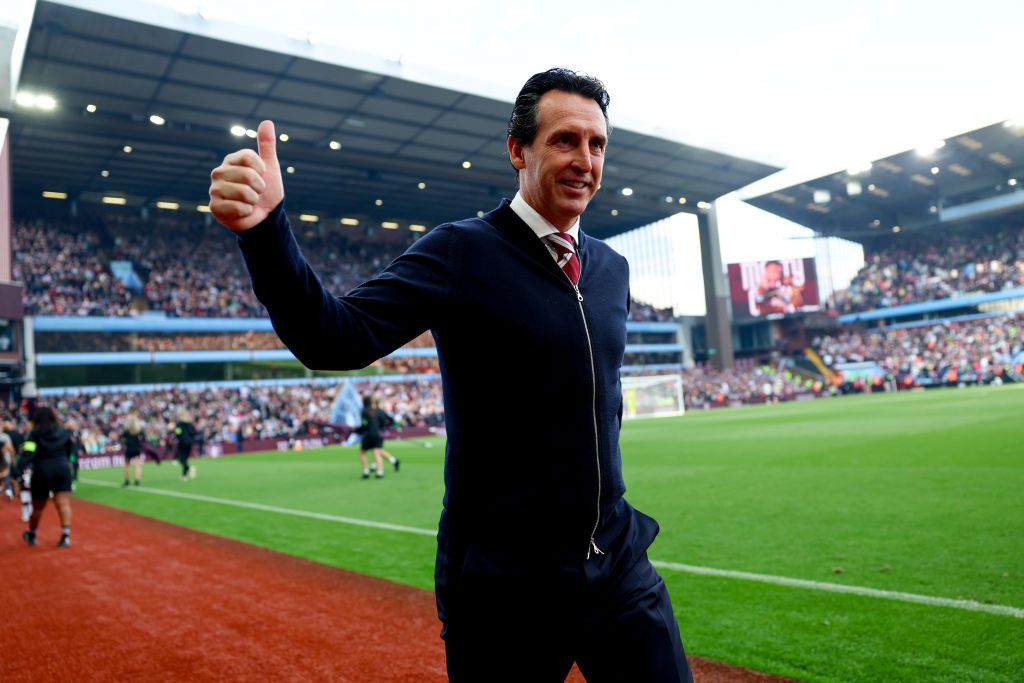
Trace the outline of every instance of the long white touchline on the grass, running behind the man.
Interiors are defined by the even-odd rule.
[[[121,484],[99,479],[82,478],[82,482],[94,484],[96,486],[106,486],[109,488],[120,488]],[[260,510],[263,512],[275,512],[293,517],[305,517],[307,519],[319,519],[322,521],[337,522],[340,524],[352,524],[355,526],[369,526],[371,528],[382,528],[389,531],[401,531],[403,533],[415,533],[417,536],[436,537],[435,529],[418,528],[416,526],[402,526],[400,524],[388,524],[386,522],[375,522],[369,519],[357,519],[355,517],[341,517],[329,515],[322,512],[307,512],[305,510],[292,510],[290,508],[279,508],[274,505],[263,505],[261,503],[247,503],[246,501],[234,501],[226,498],[214,498],[212,496],[201,496],[199,494],[184,494],[177,490],[166,490],[163,488],[135,488],[128,490],[136,494],[154,494],[157,496],[169,496],[171,498],[183,498],[190,501],[201,501],[203,503],[215,503],[218,505],[229,505],[237,508],[247,508],[250,510]],[[1024,609],[1020,607],[1010,607],[1008,605],[992,605],[976,600],[955,600],[953,598],[936,598],[931,595],[918,595],[915,593],[903,593],[900,591],[883,591],[877,588],[865,588],[863,586],[846,586],[843,584],[828,584],[820,581],[808,581],[806,579],[791,579],[788,577],[775,577],[766,573],[753,573],[750,571],[737,571],[734,569],[716,569],[715,567],[702,567],[694,564],[681,564],[679,562],[665,562],[662,560],[651,560],[658,569],[669,569],[672,571],[683,571],[705,577],[718,577],[721,579],[738,579],[740,581],[753,581],[761,584],[772,584],[775,586],[787,586],[791,588],[804,588],[813,591],[826,591],[829,593],[849,593],[869,598],[881,598],[883,600],[896,600],[898,602],[912,602],[933,607],[952,607],[954,609],[965,609],[967,611],[987,612],[989,614],[1000,614],[1004,616],[1014,616],[1024,618]]]

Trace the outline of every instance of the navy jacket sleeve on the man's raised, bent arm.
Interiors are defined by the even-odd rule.
[[[443,313],[451,230],[434,228],[373,280],[328,292],[292,233],[284,202],[239,234],[256,298],[285,345],[311,370],[357,370],[387,355]]]

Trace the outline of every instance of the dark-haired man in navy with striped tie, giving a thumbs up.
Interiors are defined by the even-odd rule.
[[[362,368],[434,336],[449,434],[435,586],[456,682],[561,681],[573,660],[592,682],[692,680],[646,556],[657,524],[623,498],[629,270],[580,229],[601,182],[607,104],[596,79],[530,78],[509,122],[515,199],[435,227],[338,298],[291,232],[272,123],[258,156],[228,155],[211,174],[210,209],[307,367]],[[500,392],[481,371],[494,358]],[[503,437],[509,425],[529,425],[534,457]]]

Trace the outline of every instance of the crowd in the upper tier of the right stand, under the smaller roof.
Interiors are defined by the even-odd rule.
[[[836,293],[841,313],[1024,287],[1024,227],[989,233],[909,238],[866,254],[849,289]]]

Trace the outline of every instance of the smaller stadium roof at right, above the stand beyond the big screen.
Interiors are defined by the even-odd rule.
[[[858,242],[1016,220],[1024,217],[1024,121],[1002,121],[744,199],[822,234]]]

